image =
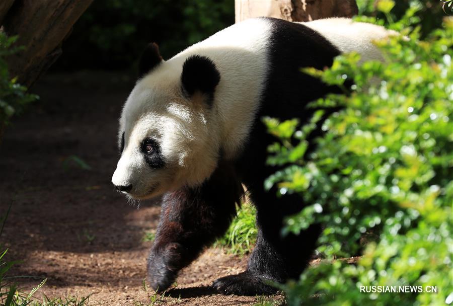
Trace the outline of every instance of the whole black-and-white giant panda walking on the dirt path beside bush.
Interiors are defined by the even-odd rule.
[[[331,18],[306,23],[256,18],[237,23],[169,60],[149,44],[139,79],[119,121],[121,157],[112,177],[129,198],[162,197],[147,279],[166,290],[178,271],[227,230],[246,186],[257,208],[257,243],[247,269],[217,279],[220,293],[275,292],[269,281],[297,278],[315,249],[320,227],[281,237],[282,220],[304,207],[297,195],[278,197],[264,180],[275,141],[263,116],[306,121],[307,103],[338,91],[300,71],[323,69],[357,51],[381,59],[373,40],[383,27]],[[334,154],[334,152],[332,152]]]

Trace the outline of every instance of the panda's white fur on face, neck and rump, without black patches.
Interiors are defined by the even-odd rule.
[[[327,38],[341,52],[356,51],[364,59],[379,59],[372,44],[393,33],[375,25],[331,18],[303,23]],[[125,148],[112,177],[114,185],[129,185],[129,194],[148,198],[183,185],[197,185],[214,171],[218,154],[238,155],[246,142],[269,70],[268,19],[249,19],[226,28],[163,61],[138,80],[120,118],[119,138]],[[290,48],[290,44],[288,45]],[[184,61],[191,55],[210,58],[220,72],[212,108],[199,95],[181,91]],[[140,143],[158,138],[166,167],[150,169]]]

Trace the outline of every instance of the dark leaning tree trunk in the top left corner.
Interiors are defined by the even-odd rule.
[[[8,36],[19,35],[16,45],[25,47],[7,58],[11,77],[32,86],[61,54],[61,42],[92,1],[16,0],[2,26]]]

